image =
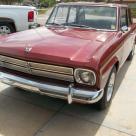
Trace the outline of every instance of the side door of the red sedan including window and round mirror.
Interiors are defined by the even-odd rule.
[[[134,33],[131,25],[132,21],[128,8],[122,7],[120,10],[120,30],[122,31],[123,40],[122,63],[125,62],[133,47]]]

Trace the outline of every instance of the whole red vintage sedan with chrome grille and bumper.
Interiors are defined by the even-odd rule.
[[[60,3],[45,26],[0,38],[0,80],[105,109],[135,43],[136,24],[126,5]]]

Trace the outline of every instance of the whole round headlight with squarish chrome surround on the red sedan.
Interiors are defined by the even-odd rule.
[[[96,75],[91,70],[78,68],[75,70],[74,76],[77,83],[88,84],[92,86],[96,83]]]

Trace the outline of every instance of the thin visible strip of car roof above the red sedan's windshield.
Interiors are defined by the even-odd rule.
[[[109,7],[127,7],[125,4],[106,3],[106,2],[67,2],[59,3],[57,6],[109,6]]]

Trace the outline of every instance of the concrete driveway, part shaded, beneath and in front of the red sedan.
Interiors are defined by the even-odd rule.
[[[117,76],[106,111],[0,83],[0,136],[136,136],[136,56]]]

